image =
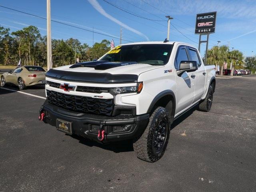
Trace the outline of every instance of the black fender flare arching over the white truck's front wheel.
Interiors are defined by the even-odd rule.
[[[174,119],[174,115],[175,115],[175,110],[176,110],[176,98],[175,98],[175,94],[172,90],[164,90],[164,91],[160,92],[159,94],[157,94],[155,96],[155,98],[152,100],[147,113],[150,114],[150,112],[152,112],[156,102],[158,102],[158,100],[160,100],[162,97],[167,96],[167,95],[172,97],[172,113],[170,114],[171,123],[172,123],[173,119]]]

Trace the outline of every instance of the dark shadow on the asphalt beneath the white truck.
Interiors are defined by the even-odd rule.
[[[182,121],[186,120],[186,118],[188,118],[197,109],[198,109],[198,105],[194,106],[193,108],[188,110],[185,114],[183,114],[182,116],[177,118],[173,122],[173,124],[171,126],[171,130],[173,128],[175,128],[176,126],[178,126]],[[115,153],[133,151],[132,140],[125,140],[125,141],[120,141],[120,142],[101,144],[96,141],[89,140],[89,139],[83,138],[82,136],[78,136],[78,135],[72,135],[71,137],[78,140],[79,143],[84,144],[86,146],[89,146],[89,147],[96,146],[96,147],[99,147],[99,148],[102,148],[105,150],[113,151]]]

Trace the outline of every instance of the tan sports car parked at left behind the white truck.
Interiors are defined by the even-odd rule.
[[[39,66],[22,66],[1,75],[1,86],[5,84],[14,84],[20,90],[27,86],[46,84],[46,71]]]

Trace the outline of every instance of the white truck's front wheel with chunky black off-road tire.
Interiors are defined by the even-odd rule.
[[[142,136],[133,144],[137,157],[148,162],[156,162],[164,155],[169,136],[169,113],[166,108],[158,107],[150,116]]]

